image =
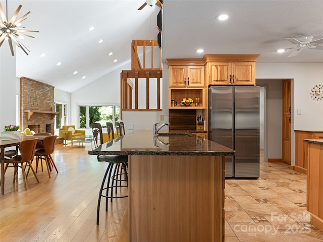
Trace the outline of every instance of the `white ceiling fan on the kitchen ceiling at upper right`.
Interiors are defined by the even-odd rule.
[[[295,46],[295,47],[285,49],[285,51],[288,49],[294,50],[287,57],[293,57],[293,56],[297,55],[300,51],[302,51],[303,49],[306,49],[306,48],[323,50],[323,45],[319,45],[319,44],[323,44],[323,38],[313,40],[313,35],[311,35],[311,34],[302,34],[302,35],[296,36],[295,38],[285,38],[285,39],[292,42],[293,44],[297,44],[297,46]]]

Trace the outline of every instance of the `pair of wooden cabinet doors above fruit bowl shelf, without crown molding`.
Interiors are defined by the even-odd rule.
[[[204,87],[204,66],[170,66],[170,87]]]

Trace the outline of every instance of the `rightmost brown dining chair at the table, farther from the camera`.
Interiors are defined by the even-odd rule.
[[[41,170],[42,170],[42,157],[44,157],[49,178],[50,178],[51,167],[54,167],[56,169],[56,172],[59,173],[59,171],[55,165],[55,162],[53,161],[53,159],[51,157],[51,154],[55,150],[56,139],[57,139],[56,135],[45,137],[42,141],[43,149],[36,150],[36,152],[35,152],[36,173],[37,173],[37,169],[38,169],[39,159],[41,162]],[[28,172],[29,172],[29,169],[28,169]],[[28,175],[28,172],[27,172],[27,175]]]

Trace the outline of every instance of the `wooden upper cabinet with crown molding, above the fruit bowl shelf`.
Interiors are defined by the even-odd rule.
[[[190,59],[167,59],[170,87],[204,87],[204,64],[192,65]],[[195,59],[196,60],[196,59]],[[199,61],[201,63],[201,60]],[[191,64],[191,65],[190,65]]]

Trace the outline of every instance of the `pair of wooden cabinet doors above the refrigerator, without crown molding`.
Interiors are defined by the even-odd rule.
[[[209,85],[255,85],[254,62],[208,63]]]

